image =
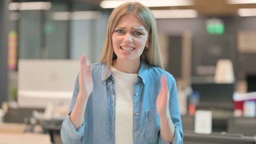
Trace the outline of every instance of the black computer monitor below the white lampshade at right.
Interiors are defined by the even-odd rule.
[[[233,93],[235,84],[193,83],[194,92],[199,92],[198,108],[233,110]]]

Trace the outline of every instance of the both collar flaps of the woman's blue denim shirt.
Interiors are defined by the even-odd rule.
[[[101,70],[101,80],[102,81],[105,80],[107,69],[108,69],[107,65],[103,64],[102,70]],[[147,76],[148,76],[148,64],[146,62],[144,62],[142,59],[141,59],[141,66],[139,69],[138,76],[142,79],[142,82],[145,84]],[[107,79],[109,77],[111,77],[113,79],[113,75],[112,75],[111,71],[108,72]]]

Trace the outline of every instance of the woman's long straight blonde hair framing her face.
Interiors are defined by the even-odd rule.
[[[141,54],[141,59],[143,59],[144,62],[150,65],[154,65],[161,69],[164,69],[160,57],[156,20],[154,18],[154,15],[151,13],[148,7],[145,7],[141,3],[127,2],[115,8],[115,10],[112,11],[111,16],[108,20],[105,45],[100,60],[103,64],[107,65],[108,67],[106,78],[112,65],[113,57],[116,56],[112,45],[112,34],[116,24],[118,23],[118,20],[121,18],[121,16],[124,16],[126,14],[134,14],[135,16],[137,16],[141,23],[149,32],[149,47],[148,49],[144,49],[144,51]]]

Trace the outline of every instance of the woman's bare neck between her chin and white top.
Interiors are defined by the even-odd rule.
[[[127,60],[115,59],[112,62],[112,66],[120,72],[138,73],[141,66],[141,60],[136,59],[133,61],[127,61]]]

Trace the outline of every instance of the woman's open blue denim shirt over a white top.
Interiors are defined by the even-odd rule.
[[[78,130],[75,130],[69,118],[79,93],[79,75],[77,75],[69,115],[62,122],[60,131],[63,144],[79,144],[79,142],[81,144],[115,144],[116,95],[114,77],[110,71],[106,81],[104,81],[107,66],[102,63],[95,63],[90,67],[93,91],[85,108],[83,124]],[[169,107],[175,127],[172,144],[183,144],[175,79],[170,73],[148,65],[142,60],[133,94],[134,144],[168,144],[161,137],[160,117],[156,109],[156,101],[161,90],[162,74],[166,75],[170,90]],[[135,115],[137,112],[139,115]]]

